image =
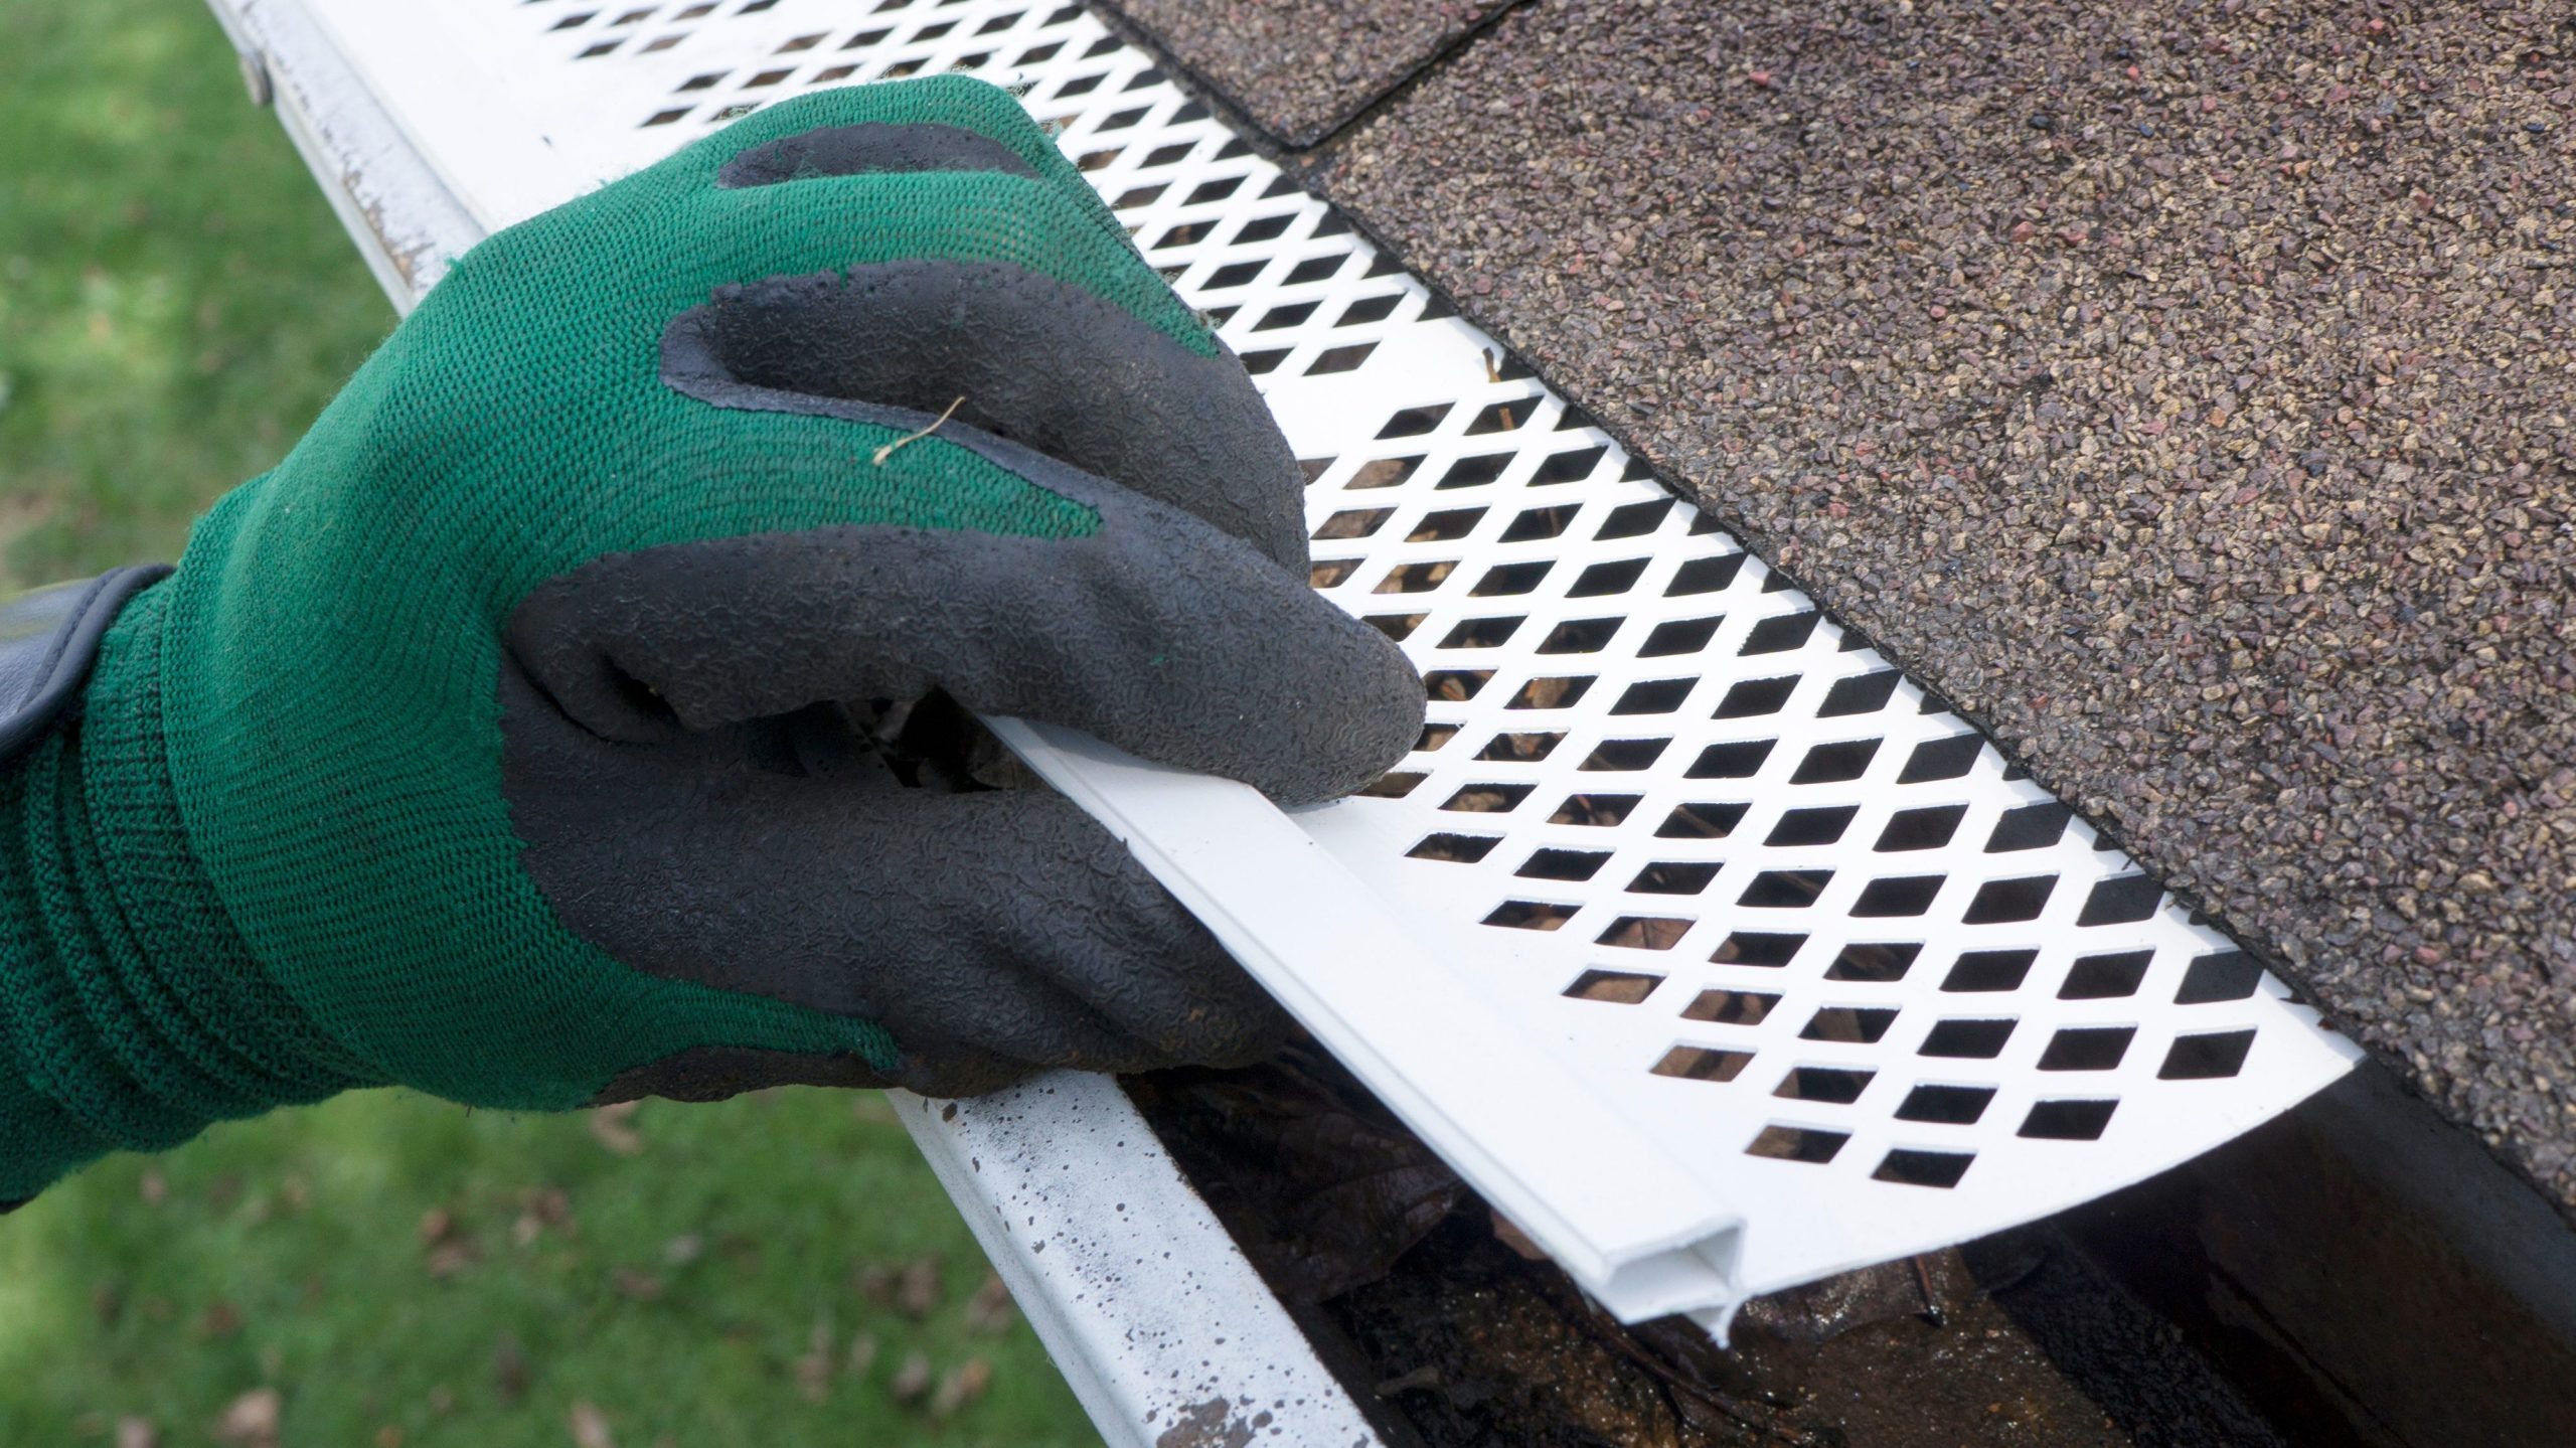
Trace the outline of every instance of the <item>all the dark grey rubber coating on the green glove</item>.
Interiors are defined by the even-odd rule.
[[[724,186],[1030,167],[948,126],[842,126]],[[721,289],[662,379],[714,407],[963,446],[1097,531],[814,528],[611,554],[513,613],[502,763],[523,861],[629,969],[881,1023],[894,1072],[698,1049],[600,1100],[781,1082],[976,1092],[1041,1067],[1236,1064],[1285,1018],[1097,822],[1048,791],[904,788],[837,709],[943,691],[1285,804],[1347,794],[1422,683],[1306,585],[1301,479],[1242,363],[1033,271],[904,260]],[[832,737],[840,750],[809,747]]]

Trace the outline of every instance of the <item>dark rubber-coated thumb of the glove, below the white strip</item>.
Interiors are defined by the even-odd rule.
[[[744,729],[636,750],[518,670],[502,734],[526,868],[569,930],[629,969],[873,1020],[896,1085],[1239,1062],[1283,1031],[1061,796],[796,776]]]

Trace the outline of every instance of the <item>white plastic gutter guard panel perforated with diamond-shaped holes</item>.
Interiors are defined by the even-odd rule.
[[[1023,88],[1262,384],[1314,585],[1430,680],[1404,768],[1298,827],[1502,1020],[1494,1072],[1571,1082],[1528,1131],[1615,1121],[1739,1229],[1726,1296],[2084,1201],[2347,1069],[2277,979],[1079,8],[456,0],[428,49],[415,13],[317,10],[492,224],[804,88]]]

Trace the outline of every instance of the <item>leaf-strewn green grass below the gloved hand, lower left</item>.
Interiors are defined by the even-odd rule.
[[[971,1322],[984,1260],[881,1095],[631,1126],[616,1154],[582,1118],[355,1092],[93,1167],[0,1224],[0,1443],[121,1415],[198,1443],[260,1386],[286,1443],[564,1445],[577,1402],[626,1448],[1092,1440],[1025,1324]],[[917,1260],[920,1322],[866,1286]],[[992,1389],[902,1407],[912,1353]]]

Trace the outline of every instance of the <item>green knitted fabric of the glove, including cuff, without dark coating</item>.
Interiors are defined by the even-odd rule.
[[[1038,178],[724,188],[778,137],[994,137]],[[0,773],[0,1201],[116,1147],[404,1082],[572,1108],[693,1046],[891,1059],[884,1031],[618,966],[559,925],[502,796],[500,636],[611,551],[835,523],[1082,536],[1097,518],[891,428],[719,410],[657,376],[719,286],[1002,260],[1216,343],[1005,93],[819,93],[489,237],[118,618],[80,719]]]

